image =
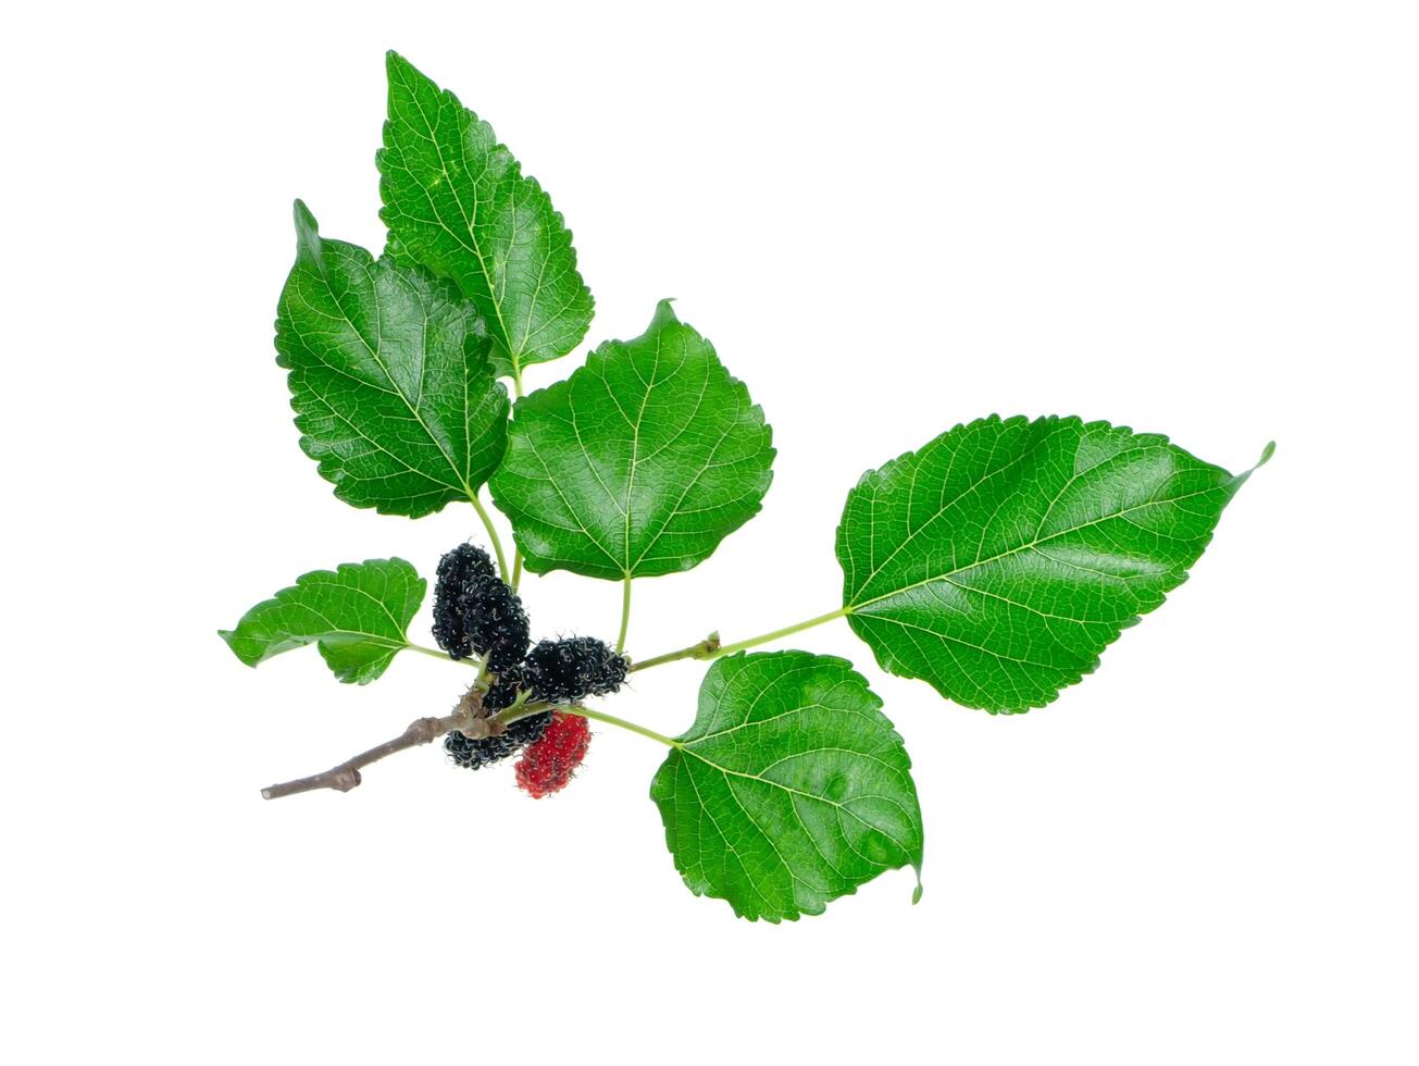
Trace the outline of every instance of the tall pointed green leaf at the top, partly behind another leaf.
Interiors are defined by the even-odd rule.
[[[566,355],[592,324],[572,234],[492,126],[389,53],[377,155],[389,251],[451,278],[488,322],[498,373]]]

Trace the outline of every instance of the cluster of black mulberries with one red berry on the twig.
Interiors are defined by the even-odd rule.
[[[434,585],[434,639],[453,659],[480,654],[490,674],[482,696],[487,714],[518,698],[572,704],[620,688],[629,663],[595,637],[541,640],[531,649],[529,622],[518,595],[498,578],[488,554],[460,544],[438,562]],[[450,732],[444,751],[460,766],[481,769],[526,748],[518,784],[542,798],[562,789],[580,765],[590,740],[586,718],[543,711],[518,718],[495,737]]]

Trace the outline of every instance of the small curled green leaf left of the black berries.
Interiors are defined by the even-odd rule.
[[[409,647],[409,622],[423,603],[424,588],[403,559],[346,562],[297,578],[220,636],[247,666],[318,644],[341,681],[369,684]]]

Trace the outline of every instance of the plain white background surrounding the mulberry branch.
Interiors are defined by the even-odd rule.
[[[11,10],[0,1057],[1415,1062],[1406,7]],[[663,751],[606,730],[542,803],[437,749],[260,799],[464,680],[216,637],[305,571],[430,572],[474,531],[336,501],[272,362],[291,199],[382,244],[386,47],[551,190],[592,341],[677,297],[775,427],[762,515],[637,588],[634,653],[836,606],[846,490],[961,420],[1111,419],[1230,468],[1279,441],[1044,711],[948,705],[843,623],[797,639],[907,738],[918,907],[907,872],[780,927],[692,897]],[[542,633],[610,634],[617,596],[526,590]],[[700,674],[607,710],[677,732]]]

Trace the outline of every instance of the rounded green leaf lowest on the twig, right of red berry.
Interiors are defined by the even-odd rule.
[[[718,660],[650,786],[675,867],[745,918],[793,920],[908,863],[921,893],[911,759],[850,663]]]

